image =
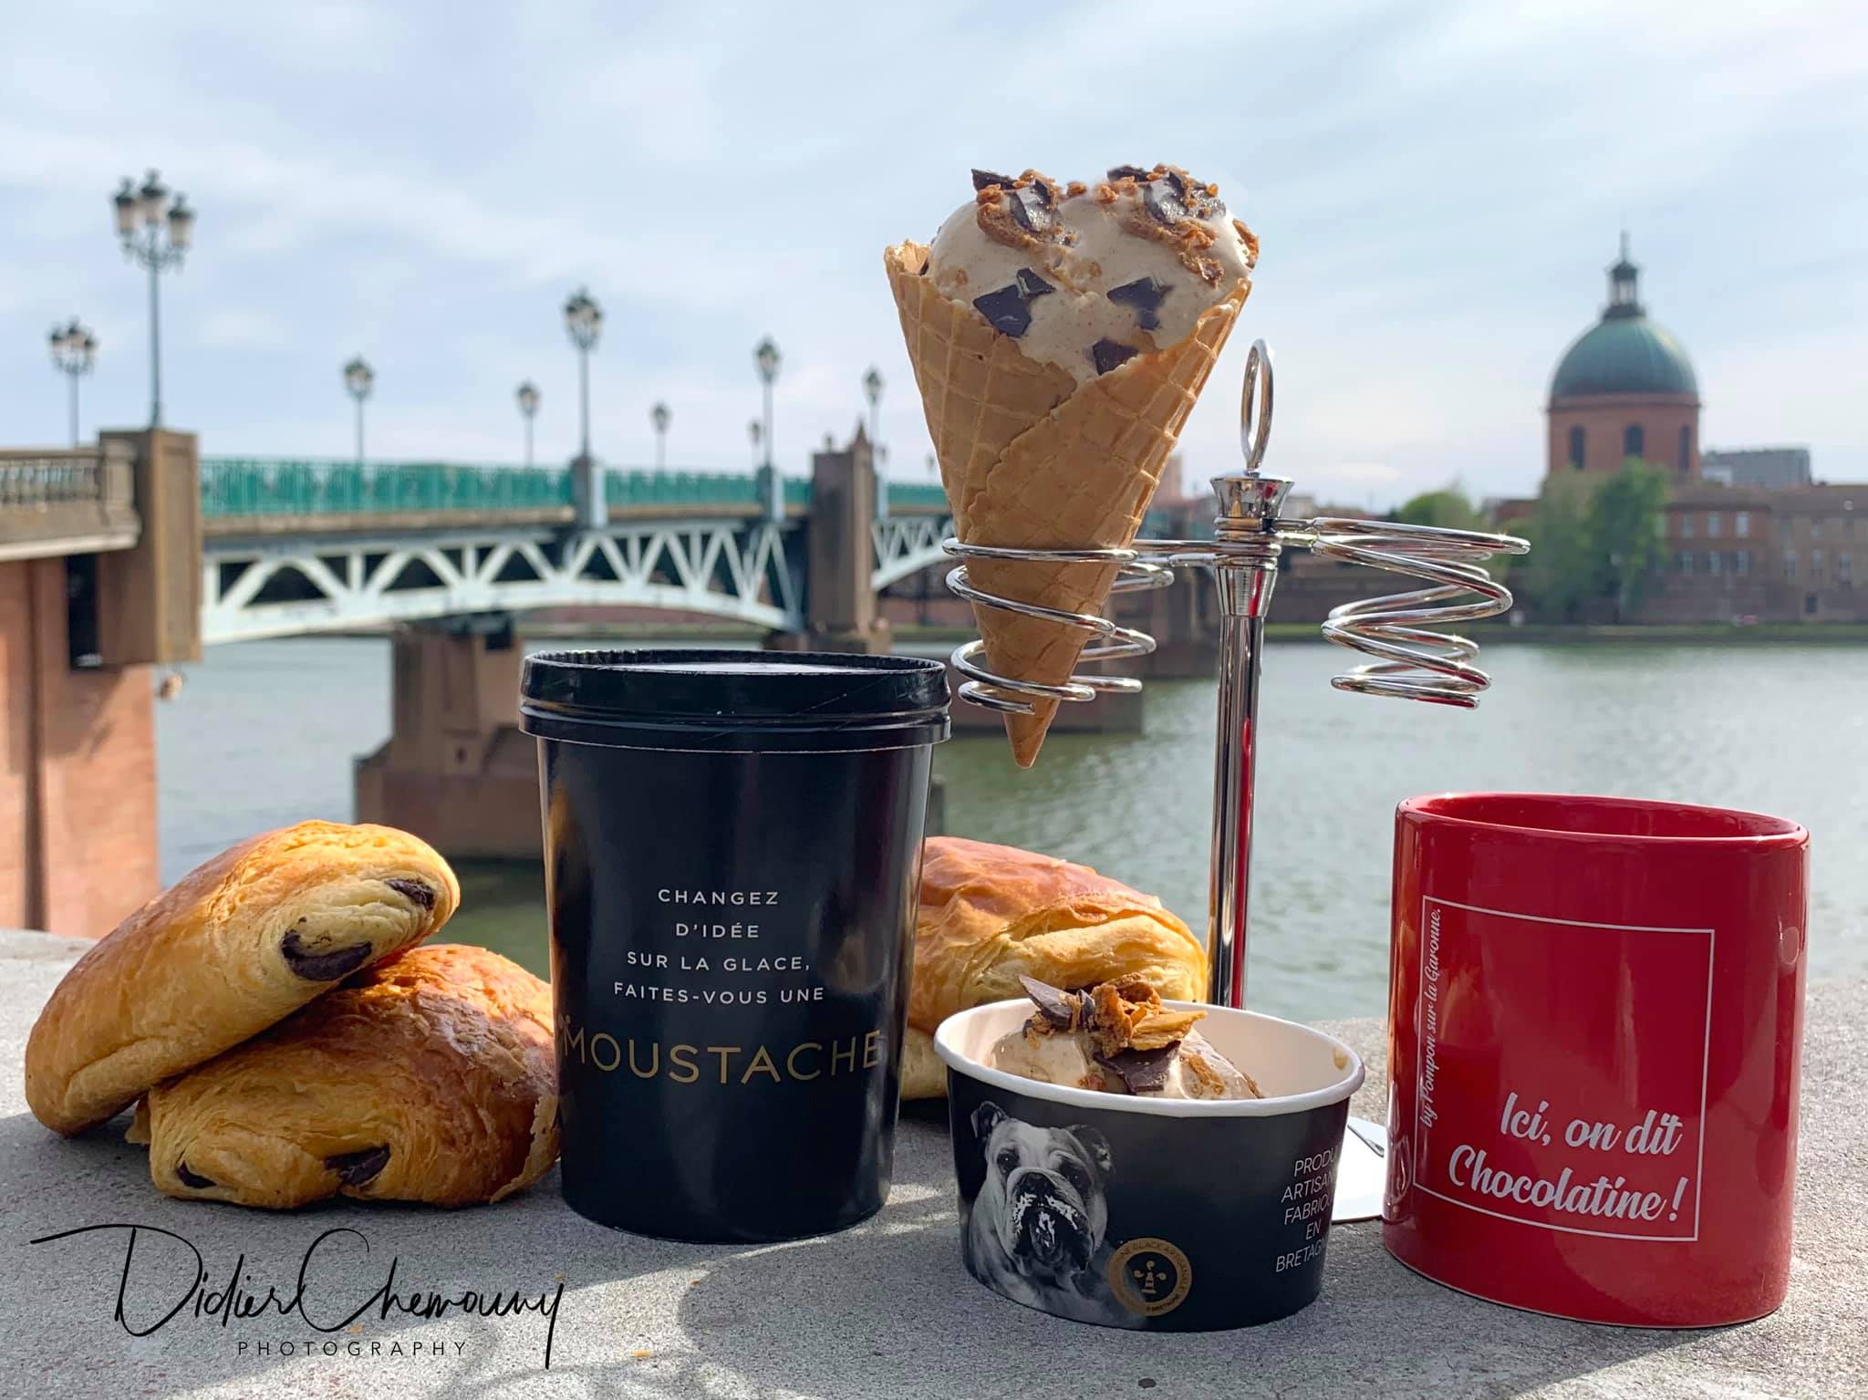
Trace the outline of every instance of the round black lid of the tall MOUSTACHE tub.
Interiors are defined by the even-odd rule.
[[[529,734],[587,743],[628,741],[631,730],[648,741],[687,732],[708,747],[742,747],[729,735],[930,743],[947,734],[947,668],[833,651],[540,651],[525,659],[519,721]]]

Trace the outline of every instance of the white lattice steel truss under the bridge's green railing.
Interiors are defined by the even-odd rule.
[[[945,521],[876,521],[872,586],[941,558]],[[790,549],[788,549],[790,543]],[[202,642],[347,631],[553,607],[652,607],[773,631],[805,625],[798,523],[667,519],[551,526],[209,538]]]

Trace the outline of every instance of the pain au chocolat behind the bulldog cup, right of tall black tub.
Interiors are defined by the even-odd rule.
[[[921,857],[902,1098],[941,1098],[934,1030],[969,1006],[1024,997],[1020,976],[1080,991],[1141,980],[1207,995],[1207,950],[1153,894],[1050,855],[930,836]]]

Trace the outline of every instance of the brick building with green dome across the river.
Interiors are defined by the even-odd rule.
[[[1868,622],[1868,483],[1812,483],[1795,448],[1707,454],[1705,472],[1692,360],[1642,306],[1625,235],[1608,304],[1558,362],[1547,416],[1545,493],[1593,485],[1629,457],[1668,474],[1666,558],[1642,622]],[[1528,508],[1498,502],[1496,517]]]

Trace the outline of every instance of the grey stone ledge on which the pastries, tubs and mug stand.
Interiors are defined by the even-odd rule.
[[[1328,1282],[1311,1309],[1250,1331],[1143,1337],[1057,1322],[973,1284],[960,1267],[941,1113],[904,1114],[895,1191],[867,1225],[764,1249],[641,1239],[590,1225],[559,1200],[557,1174],[493,1208],[327,1206],[269,1215],[168,1200],[121,1122],[75,1141],[26,1114],[26,1030],[64,967],[88,945],[0,933],[0,1213],[21,1286],[0,1294],[0,1391],[54,1396],[1844,1396],[1868,1394],[1868,982],[1812,989],[1804,1043],[1801,1195],[1790,1301],[1762,1322],[1661,1333],[1539,1318],[1438,1288],[1388,1258],[1373,1225],[1332,1234]],[[1369,1060],[1356,1113],[1382,1118],[1379,1021],[1332,1030]],[[551,1370],[536,1314],[501,1320],[372,1318],[312,1333],[278,1318],[232,1322],[187,1310],[144,1338],[110,1322],[120,1238],[28,1239],[101,1223],[142,1223],[200,1249],[211,1286],[245,1253],[263,1295],[291,1290],[325,1230],[366,1234],[333,1258],[331,1307],[381,1288],[555,1288],[564,1282]],[[161,1249],[174,1251],[172,1254]],[[133,1294],[149,1307],[192,1271],[181,1245],[138,1243]],[[157,1266],[185,1260],[179,1282]],[[325,1256],[321,1256],[325,1258]],[[163,1305],[164,1309],[168,1303]],[[314,1310],[316,1314],[316,1310]],[[338,1346],[304,1357],[310,1340]],[[241,1346],[245,1342],[245,1348]],[[267,1355],[258,1353],[265,1342]],[[293,1355],[280,1344],[293,1342]],[[349,1355],[351,1344],[359,1355]],[[415,1342],[424,1351],[409,1355]],[[445,1355],[430,1348],[445,1344]],[[461,1350],[456,1350],[461,1344]],[[381,1353],[370,1355],[372,1346]],[[392,1348],[402,1348],[394,1355]]]

